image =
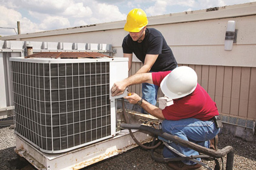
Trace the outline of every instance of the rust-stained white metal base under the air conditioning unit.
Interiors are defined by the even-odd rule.
[[[132,130],[133,135],[141,143],[150,142],[152,136],[140,131]],[[30,143],[25,142],[16,136],[15,152],[24,157],[36,169],[45,170],[70,170],[82,169],[102,160],[109,159],[115,155],[135,148],[136,143],[133,141],[127,129],[124,129],[118,136],[102,142],[93,143],[83,148],[74,149],[62,154],[49,155],[38,151]]]

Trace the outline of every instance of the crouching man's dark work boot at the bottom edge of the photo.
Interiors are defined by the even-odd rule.
[[[186,165],[181,161],[168,162],[166,166],[170,170],[202,170],[203,169],[202,166],[198,163],[195,165]]]

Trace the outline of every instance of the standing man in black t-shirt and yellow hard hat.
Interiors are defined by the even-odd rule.
[[[124,30],[129,34],[123,40],[124,57],[129,58],[129,70],[132,67],[132,53],[143,62],[143,67],[136,72],[170,71],[177,67],[172,50],[163,35],[155,28],[147,28],[146,13],[140,8],[131,10],[127,15]],[[142,84],[143,99],[155,105],[158,87],[149,83]],[[144,113],[144,110],[141,110]]]

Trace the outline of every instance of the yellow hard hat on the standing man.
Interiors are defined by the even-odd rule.
[[[138,33],[143,27],[147,25],[147,15],[140,8],[134,8],[131,10],[126,18],[126,25],[124,25],[124,30]]]

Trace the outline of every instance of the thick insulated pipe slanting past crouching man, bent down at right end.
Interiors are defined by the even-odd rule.
[[[169,133],[161,131],[160,129],[155,129],[155,128],[152,128],[150,126],[123,123],[123,124],[121,124],[121,128],[138,129],[138,130],[141,130],[141,131],[152,132],[153,134],[155,134],[157,136],[161,136],[166,140],[170,140],[172,142],[178,143],[179,145],[186,146],[188,148],[194,149],[195,151],[198,151],[200,153],[210,155],[211,157],[214,157],[214,158],[221,158],[221,157],[224,157],[224,155],[227,155],[226,170],[232,170],[233,169],[234,149],[232,148],[232,146],[226,146],[223,149],[219,149],[218,151],[214,151],[213,149],[205,148],[203,146],[197,145],[196,143],[180,139],[177,136],[173,136]]]

